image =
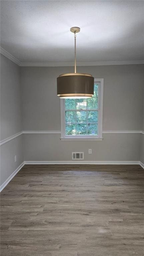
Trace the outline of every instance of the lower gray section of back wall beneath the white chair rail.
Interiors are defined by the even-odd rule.
[[[139,161],[140,134],[104,134],[103,141],[61,141],[59,134],[24,135],[26,161],[71,161],[84,152],[85,161]],[[92,149],[92,154],[88,154]]]

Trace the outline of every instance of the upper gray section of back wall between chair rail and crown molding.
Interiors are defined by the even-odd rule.
[[[104,78],[103,130],[141,130],[144,65],[77,69]],[[60,130],[56,78],[71,71],[73,67],[21,67],[24,130]]]

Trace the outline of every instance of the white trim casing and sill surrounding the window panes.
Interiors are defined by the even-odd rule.
[[[64,99],[60,99],[60,111],[61,111],[61,141],[102,141],[102,121],[103,121],[103,78],[94,78],[94,82],[100,82],[99,86],[99,101],[98,101],[98,135],[97,136],[74,136],[65,135],[65,111],[64,111]]]

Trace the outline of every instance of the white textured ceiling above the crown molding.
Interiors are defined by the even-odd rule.
[[[144,59],[144,1],[1,1],[1,46],[21,62]]]

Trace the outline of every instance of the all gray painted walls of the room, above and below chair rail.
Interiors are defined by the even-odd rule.
[[[1,55],[1,140],[22,130],[59,131],[56,78],[71,71],[73,67],[19,67]],[[78,71],[104,78],[103,130],[144,130],[143,65],[88,66]],[[24,160],[69,161],[72,151],[84,151],[86,161],[144,163],[143,135],[104,134],[103,138],[76,142],[61,141],[59,134],[21,135],[1,146],[1,184]]]

